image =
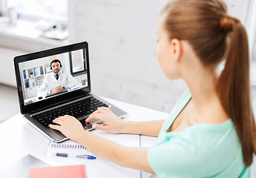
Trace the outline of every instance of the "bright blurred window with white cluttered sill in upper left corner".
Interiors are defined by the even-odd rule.
[[[0,13],[15,24],[4,29],[11,34],[68,39],[68,0],[0,0]]]

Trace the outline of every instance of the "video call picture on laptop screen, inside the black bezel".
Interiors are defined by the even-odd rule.
[[[85,50],[74,50],[19,63],[24,105],[64,94],[61,92],[63,90],[66,93],[88,87],[85,56]],[[55,78],[56,70],[53,71],[53,65],[50,66],[55,59],[61,62],[59,79]],[[59,82],[56,82],[57,80]],[[63,90],[55,90],[56,93],[52,95],[50,90],[54,90],[59,85]]]

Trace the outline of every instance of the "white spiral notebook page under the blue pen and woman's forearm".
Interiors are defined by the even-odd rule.
[[[140,136],[138,135],[112,134],[96,130],[94,130],[93,133],[124,145],[125,147],[140,147]],[[104,149],[104,147],[102,147],[102,149]],[[77,142],[73,142],[72,140],[67,140],[61,143],[50,142],[45,156],[60,165],[84,164],[86,166],[88,177],[140,177],[140,171],[131,168],[122,168],[121,166],[102,159],[99,156],[96,156],[97,159],[93,160],[72,157],[65,158],[56,156],[57,152],[67,154],[90,154],[96,156],[91,153],[91,151],[88,151],[86,148],[82,147],[82,145],[79,145]]]

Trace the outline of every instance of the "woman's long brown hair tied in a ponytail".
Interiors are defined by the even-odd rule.
[[[170,40],[186,40],[204,66],[216,66],[226,59],[216,91],[243,149],[246,167],[256,154],[256,125],[249,86],[249,45],[239,20],[228,16],[220,0],[176,0],[162,12]]]

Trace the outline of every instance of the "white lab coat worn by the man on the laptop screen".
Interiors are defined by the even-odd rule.
[[[47,73],[45,76],[45,79],[42,82],[42,85],[40,85],[39,90],[37,92],[37,96],[45,96],[47,91],[53,90],[56,87],[62,86],[69,88],[77,85],[76,79],[73,78],[73,76],[68,73],[66,70],[60,70],[59,72],[59,79],[56,80],[53,73]]]

